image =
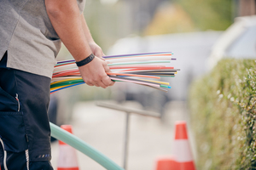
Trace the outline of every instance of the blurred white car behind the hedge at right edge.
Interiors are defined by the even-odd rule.
[[[256,15],[238,17],[224,31],[212,48],[208,68],[222,58],[256,59]]]

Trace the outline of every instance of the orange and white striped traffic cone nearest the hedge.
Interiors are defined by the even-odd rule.
[[[186,122],[176,122],[173,156],[177,170],[195,170],[192,152],[189,145]]]

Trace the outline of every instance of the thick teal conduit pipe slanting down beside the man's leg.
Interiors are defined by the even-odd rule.
[[[71,145],[76,150],[81,151],[84,155],[89,156],[91,159],[98,162],[102,167],[105,167],[108,170],[125,170],[123,167],[119,167],[119,165],[110,160],[107,156],[104,156],[101,152],[94,149],[89,144],[86,144],[72,133],[68,133],[51,122],[49,122],[49,125],[52,137]]]

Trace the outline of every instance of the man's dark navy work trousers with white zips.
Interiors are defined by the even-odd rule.
[[[6,68],[0,61],[1,170],[51,170],[49,77]]]

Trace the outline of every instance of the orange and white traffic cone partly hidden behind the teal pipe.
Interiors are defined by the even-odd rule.
[[[73,133],[71,125],[61,125],[61,128],[69,133]],[[76,150],[61,140],[59,140],[59,144],[60,155],[57,170],[79,170]]]

